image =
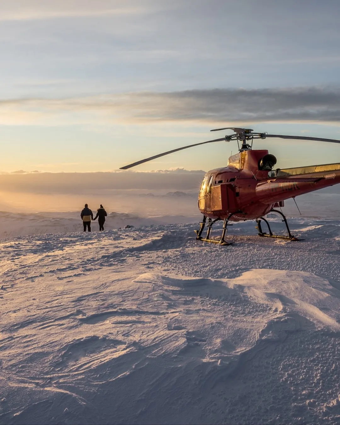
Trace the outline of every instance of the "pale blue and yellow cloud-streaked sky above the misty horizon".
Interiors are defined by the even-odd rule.
[[[99,172],[215,127],[340,139],[340,3],[0,1],[0,171]],[[340,145],[267,139],[278,167],[340,161]],[[137,171],[209,170],[236,142]]]

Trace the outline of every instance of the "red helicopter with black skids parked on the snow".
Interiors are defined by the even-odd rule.
[[[295,198],[297,195],[312,192],[327,186],[340,183],[340,164],[311,165],[307,167],[295,167],[275,169],[276,158],[268,153],[268,150],[253,150],[254,139],[266,139],[267,137],[279,137],[281,139],[316,140],[320,142],[340,143],[340,140],[323,139],[305,136],[283,136],[279,134],[253,133],[251,128],[224,127],[210,131],[233,130],[235,133],[221,139],[208,140],[207,142],[190,144],[169,150],[150,158],[133,162],[133,164],[121,167],[121,170],[135,167],[152,159],[188,147],[200,144],[230,142],[237,140],[239,153],[230,156],[227,167],[210,170],[203,178],[201,190],[198,194],[198,209],[203,214],[203,220],[199,230],[195,230],[198,240],[228,245],[224,239],[229,221],[256,220],[258,235],[270,238],[283,238],[297,241],[288,227],[285,215],[276,210],[283,207],[284,200]],[[251,141],[251,145],[247,142]],[[241,142],[241,147],[239,142]],[[295,200],[295,199],[294,199]],[[269,222],[263,216],[269,212],[276,212],[283,218],[286,224],[288,236],[274,235]],[[207,222],[208,219],[208,222]],[[219,240],[211,239],[212,225],[219,220],[224,220],[222,236]],[[268,227],[268,233],[263,232],[261,221]],[[202,232],[207,224],[206,237]]]

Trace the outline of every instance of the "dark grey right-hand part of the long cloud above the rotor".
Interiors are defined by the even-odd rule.
[[[339,121],[340,90],[213,89],[130,94],[123,102],[141,120]],[[104,104],[103,104],[104,106]]]

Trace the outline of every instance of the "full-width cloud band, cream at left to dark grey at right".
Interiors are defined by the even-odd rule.
[[[340,89],[323,87],[135,92],[0,102],[0,124],[339,122]]]

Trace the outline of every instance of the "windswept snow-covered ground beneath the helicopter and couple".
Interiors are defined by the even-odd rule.
[[[340,422],[340,222],[194,228],[1,242],[1,424]]]

